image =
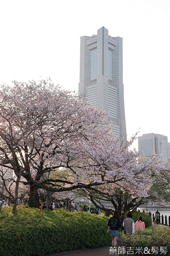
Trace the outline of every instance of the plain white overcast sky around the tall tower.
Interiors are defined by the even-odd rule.
[[[170,141],[169,14],[169,0],[0,0],[0,83],[51,76],[78,90],[80,36],[104,26],[123,37],[128,138],[140,128]]]

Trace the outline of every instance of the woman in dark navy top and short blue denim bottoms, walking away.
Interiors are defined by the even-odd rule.
[[[115,211],[113,216],[108,220],[107,226],[110,227],[110,234],[112,236],[112,247],[116,247],[117,242],[116,239],[119,236],[119,228],[121,228],[121,219],[119,216],[119,212]]]

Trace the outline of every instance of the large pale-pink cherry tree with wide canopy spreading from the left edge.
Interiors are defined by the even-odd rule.
[[[116,138],[106,115],[50,79],[1,85],[0,164],[16,176],[13,212],[20,182],[29,186],[28,205],[38,208],[40,188],[63,192],[104,184],[131,189],[133,184],[137,193],[146,194],[152,184],[146,174],[159,173],[162,163],[128,150],[135,136]],[[44,179],[48,172],[53,176]]]

